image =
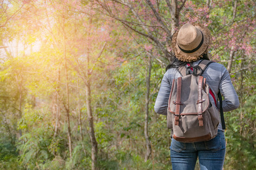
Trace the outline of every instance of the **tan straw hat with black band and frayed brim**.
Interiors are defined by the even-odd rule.
[[[184,24],[172,37],[172,49],[180,61],[194,62],[207,53],[210,31],[199,24]]]

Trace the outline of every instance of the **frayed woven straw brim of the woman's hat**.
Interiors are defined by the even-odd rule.
[[[185,53],[182,52],[179,48],[179,46],[177,45],[177,34],[179,33],[179,30],[175,32],[175,34],[172,36],[172,50],[174,50],[175,53],[175,57],[177,59],[179,59],[180,61],[184,61],[184,62],[194,62],[197,61],[198,59],[200,59],[201,57],[203,57],[203,54],[207,53],[207,50],[209,48],[210,45],[210,31],[207,27],[204,27],[203,25],[200,24],[192,24],[194,25],[196,28],[200,29],[200,31],[203,33],[204,35],[204,41],[203,44],[201,45],[201,47],[196,50],[193,53]]]

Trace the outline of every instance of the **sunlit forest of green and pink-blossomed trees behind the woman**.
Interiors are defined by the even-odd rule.
[[[154,102],[172,35],[195,22],[240,97],[224,169],[255,169],[253,0],[2,0],[0,168],[170,169]]]

